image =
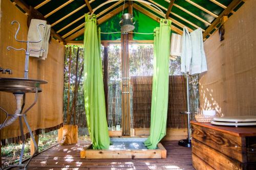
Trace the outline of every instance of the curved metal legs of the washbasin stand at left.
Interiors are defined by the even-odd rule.
[[[35,89],[35,100],[33,102],[33,104],[27,109],[25,110],[23,113],[21,114],[15,114],[17,116],[19,116],[19,128],[20,128],[20,133],[21,133],[21,136],[22,136],[22,152],[20,153],[20,157],[19,157],[19,163],[16,164],[16,165],[10,165],[8,166],[7,168],[10,168],[10,167],[24,167],[24,170],[27,169],[28,167],[28,164],[29,162],[31,161],[31,159],[35,156],[35,154],[37,153],[37,150],[38,150],[38,147],[37,147],[37,143],[35,141],[35,138],[34,138],[34,135],[32,133],[32,130],[29,126],[29,123],[28,123],[28,120],[27,120],[27,112],[36,104],[37,102],[37,93],[38,93],[38,88]],[[23,105],[22,105],[22,111],[23,111],[23,108],[25,106],[25,102],[26,102],[26,93],[24,93],[23,95]],[[3,108],[0,107],[1,110],[3,110],[5,113],[6,113],[6,118],[5,118],[5,121],[4,123],[6,122],[8,116],[13,116],[13,114],[8,114],[6,110],[4,110]],[[21,112],[22,112],[21,111]],[[22,163],[22,159],[23,159],[23,155],[24,155],[24,151],[25,151],[25,134],[24,134],[24,131],[23,131],[23,123],[22,123],[22,117],[24,118],[24,122],[29,130],[29,134],[33,140],[33,143],[35,145],[35,152],[34,154],[30,157],[30,159],[28,160],[28,162],[26,164],[23,164]],[[4,123],[2,124],[2,126],[0,127],[0,130],[2,129]],[[6,168],[6,169],[7,169]]]

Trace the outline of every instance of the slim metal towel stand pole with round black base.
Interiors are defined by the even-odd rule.
[[[187,139],[182,139],[179,141],[179,145],[182,147],[191,147],[191,138],[190,138],[190,108],[189,108],[189,77],[186,74],[186,88],[187,88],[187,112],[180,112],[181,114],[187,114]]]

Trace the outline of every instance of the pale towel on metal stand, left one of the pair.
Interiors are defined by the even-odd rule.
[[[181,72],[189,72],[192,57],[191,37],[186,27],[183,28],[182,53],[181,53]]]

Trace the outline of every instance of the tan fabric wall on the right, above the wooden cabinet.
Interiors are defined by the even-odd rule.
[[[200,103],[223,115],[256,115],[256,1],[248,0],[204,42],[208,71],[200,76]]]

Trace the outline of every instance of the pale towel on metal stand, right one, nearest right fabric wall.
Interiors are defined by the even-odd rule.
[[[190,36],[192,45],[190,74],[194,75],[207,71],[207,63],[204,53],[202,29],[198,28],[191,32]]]

